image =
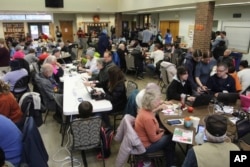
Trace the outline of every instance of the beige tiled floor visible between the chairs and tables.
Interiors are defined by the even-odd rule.
[[[138,84],[139,89],[143,89],[146,86],[146,84],[149,82],[156,82],[156,83],[158,82],[158,80],[153,79],[147,75],[145,75],[145,79],[143,80],[136,80],[134,75],[130,74],[130,75],[127,75],[127,80],[135,81]],[[163,95],[163,98],[165,98],[165,95]],[[61,134],[59,133],[60,125],[56,123],[56,121],[52,118],[52,115],[53,113],[50,113],[46,120],[46,123],[43,124],[39,128],[43,141],[45,143],[45,147],[49,154],[48,164],[50,167],[61,167],[63,166],[64,163],[68,162],[68,164],[65,164],[64,166],[70,166],[70,160],[64,160],[64,159],[67,159],[67,156],[69,156],[65,147],[65,144],[67,143],[68,139],[65,138],[64,147],[61,147],[60,145]],[[116,155],[119,150],[119,146],[120,146],[120,143],[113,141],[112,149],[111,149],[112,155],[110,158],[108,158],[105,161],[106,167],[114,167]],[[178,148],[177,148],[176,153],[177,153],[177,164],[180,165],[183,160],[183,154],[180,153]],[[99,167],[99,166],[101,167],[102,166],[102,161],[98,161],[96,159],[96,155],[97,155],[96,151],[90,151],[86,153],[89,167]],[[75,152],[74,158],[78,159],[79,162],[82,163],[82,159],[81,159],[79,152]],[[63,161],[59,162],[59,160],[63,160]],[[77,166],[77,164],[75,164],[74,166]],[[126,166],[129,166],[129,165],[127,164]]]

